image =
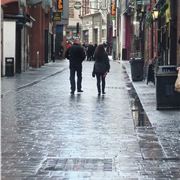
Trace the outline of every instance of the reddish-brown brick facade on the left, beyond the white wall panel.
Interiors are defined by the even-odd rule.
[[[41,67],[51,60],[52,55],[52,1],[28,1],[29,14],[34,19],[29,30],[30,66]]]

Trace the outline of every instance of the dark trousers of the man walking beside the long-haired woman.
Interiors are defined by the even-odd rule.
[[[76,72],[77,72],[77,90],[80,91],[81,82],[82,82],[82,65],[70,67],[71,92],[74,92],[76,90],[76,82],[75,82]]]

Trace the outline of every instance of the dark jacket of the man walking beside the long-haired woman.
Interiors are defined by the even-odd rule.
[[[85,59],[84,48],[79,44],[73,44],[66,52],[65,57],[70,61],[70,68],[74,66],[81,66]]]

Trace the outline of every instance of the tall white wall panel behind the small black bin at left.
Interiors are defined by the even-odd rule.
[[[14,72],[15,72],[15,52],[16,52],[16,22],[3,22],[3,75],[5,75],[5,58],[14,58]]]

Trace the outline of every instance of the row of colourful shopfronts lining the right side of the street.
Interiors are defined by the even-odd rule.
[[[179,1],[120,1],[120,57],[140,57],[147,64],[179,64]],[[157,18],[153,17],[158,11]]]

